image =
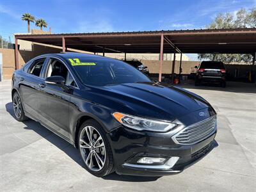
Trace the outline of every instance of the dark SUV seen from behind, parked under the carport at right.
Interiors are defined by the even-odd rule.
[[[225,87],[226,69],[224,64],[220,61],[202,61],[197,68],[195,77],[195,85],[200,83],[219,83]]]

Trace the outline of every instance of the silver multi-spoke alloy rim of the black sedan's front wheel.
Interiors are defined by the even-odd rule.
[[[106,148],[97,129],[90,125],[83,128],[79,137],[79,149],[84,163],[90,170],[102,170],[106,161]]]

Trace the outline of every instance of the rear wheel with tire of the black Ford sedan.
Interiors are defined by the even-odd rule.
[[[20,95],[18,92],[15,92],[13,94],[12,102],[13,102],[13,112],[14,112],[15,119],[19,122],[28,120],[28,117],[24,113],[22,102],[20,100]]]

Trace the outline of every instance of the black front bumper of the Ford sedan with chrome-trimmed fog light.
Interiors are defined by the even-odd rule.
[[[120,126],[108,133],[116,173],[141,176],[163,176],[182,172],[218,146],[215,136],[216,131],[199,143],[179,145],[168,132],[140,132]],[[179,157],[179,160],[168,168],[163,164],[138,164],[141,157]]]

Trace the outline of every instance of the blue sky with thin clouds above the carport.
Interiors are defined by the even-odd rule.
[[[200,29],[218,13],[255,6],[256,0],[1,0],[0,35],[13,40],[13,33],[26,33],[27,24],[20,17],[27,12],[45,19],[53,33],[83,33]]]

